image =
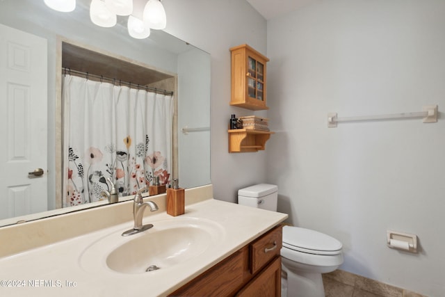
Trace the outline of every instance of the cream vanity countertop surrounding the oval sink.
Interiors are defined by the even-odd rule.
[[[115,241],[122,243],[136,238],[133,236],[139,234],[120,236],[133,226],[129,221],[0,258],[0,296],[166,296],[281,223],[287,215],[210,199],[186,206],[186,214],[182,216],[172,217],[161,212],[145,217],[143,223],[153,223],[156,227],[156,220],[184,218],[214,222],[220,235],[218,245],[175,269],[133,274],[115,272],[105,264],[106,255],[111,251],[109,246],[103,247],[103,254],[97,252],[97,263],[102,263],[102,267],[90,269],[82,264],[85,251],[92,246],[97,249],[97,241],[109,240],[111,234],[116,236]],[[8,243],[1,243],[4,244]]]

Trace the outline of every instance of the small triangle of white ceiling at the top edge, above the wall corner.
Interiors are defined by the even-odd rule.
[[[284,15],[319,0],[247,0],[265,19]]]

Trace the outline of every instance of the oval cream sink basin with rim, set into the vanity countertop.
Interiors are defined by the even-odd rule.
[[[122,230],[95,241],[81,255],[81,266],[99,272],[154,273],[186,265],[223,240],[223,229],[202,218],[172,218],[132,236]],[[99,257],[98,257],[99,255]]]

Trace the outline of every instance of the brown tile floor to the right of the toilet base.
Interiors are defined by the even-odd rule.
[[[326,297],[426,297],[346,271],[323,274]]]

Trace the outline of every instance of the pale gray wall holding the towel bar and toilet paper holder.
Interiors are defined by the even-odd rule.
[[[445,295],[445,1],[316,1],[268,22],[268,182],[290,222],[344,246],[341,268]],[[421,119],[339,117],[421,111]],[[412,255],[387,230],[419,236]]]

